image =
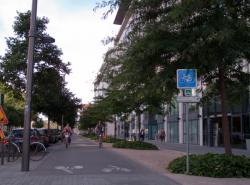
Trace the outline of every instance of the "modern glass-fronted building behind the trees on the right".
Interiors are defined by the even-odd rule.
[[[116,14],[114,24],[121,25],[117,34],[115,44],[124,39],[129,32],[128,24],[131,14],[127,6],[121,6]],[[245,62],[244,71],[250,72],[249,62]],[[200,84],[200,86],[203,84]],[[193,90],[192,92],[196,92]],[[202,96],[202,94],[198,94]],[[187,140],[187,124],[184,103],[177,103],[175,106],[166,105],[166,115],[154,115],[145,112],[140,115],[141,128],[146,131],[146,138],[155,139],[161,128],[166,132],[166,142],[185,143]],[[196,145],[221,146],[222,145],[222,123],[221,123],[220,101],[214,98],[203,107],[196,103],[189,104],[188,123],[190,128],[190,143]],[[132,112],[127,121],[121,121],[118,117],[117,135],[124,137],[138,133],[138,117]],[[231,143],[233,147],[244,147],[245,139],[250,138],[250,88],[239,97],[238,105],[230,106],[228,109],[230,122]]]

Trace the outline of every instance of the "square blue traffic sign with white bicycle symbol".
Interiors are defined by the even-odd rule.
[[[196,69],[178,69],[177,70],[177,88],[178,89],[196,89],[197,88],[197,70]]]

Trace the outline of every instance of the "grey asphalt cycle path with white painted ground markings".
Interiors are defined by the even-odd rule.
[[[31,164],[30,172],[5,172],[5,178],[0,174],[0,185],[178,185],[79,136],[73,137],[68,149],[57,144],[49,151],[43,161]]]

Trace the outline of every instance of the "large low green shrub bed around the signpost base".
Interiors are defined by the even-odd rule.
[[[167,167],[173,173],[186,172],[186,156]],[[250,177],[250,158],[227,154],[190,155],[190,175],[207,177]]]

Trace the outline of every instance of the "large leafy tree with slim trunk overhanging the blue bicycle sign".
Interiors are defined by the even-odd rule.
[[[151,80],[147,80],[145,74],[149,74],[150,79],[159,76],[159,86],[165,90],[168,103],[177,92],[174,85],[176,69],[197,68],[203,82],[213,87],[213,95],[220,97],[225,152],[231,154],[228,95],[230,98],[238,95],[250,84],[249,74],[242,70],[243,64],[249,62],[250,3],[230,0],[113,0],[104,2],[100,7],[110,6],[112,10],[127,3],[130,3],[130,13],[135,16],[129,25],[130,32],[125,36],[124,42],[128,45],[121,65],[132,66],[126,72],[135,79],[132,89],[139,93],[142,86],[152,88],[148,86]],[[156,66],[162,70],[154,74]],[[136,81],[138,76],[146,79],[146,83],[142,83],[140,78]],[[131,82],[126,78],[123,80],[122,87]],[[230,94],[226,90],[235,87],[240,88]],[[150,91],[150,88],[143,92],[146,90]],[[159,98],[165,101],[163,97]]]

